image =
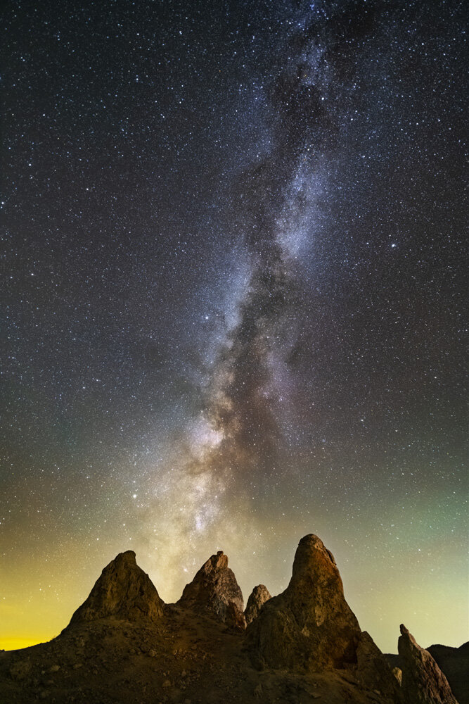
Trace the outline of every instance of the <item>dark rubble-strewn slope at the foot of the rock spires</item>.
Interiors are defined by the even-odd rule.
[[[45,643],[3,653],[1,704],[215,704],[221,702],[380,702],[352,672],[299,676],[255,670],[243,633],[178,607],[165,625],[145,628],[113,617],[79,624]]]

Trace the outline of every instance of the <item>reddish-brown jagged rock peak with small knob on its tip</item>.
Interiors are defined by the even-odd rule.
[[[178,605],[210,612],[221,621],[245,628],[243,593],[222,551],[212,555],[186,584]]]

